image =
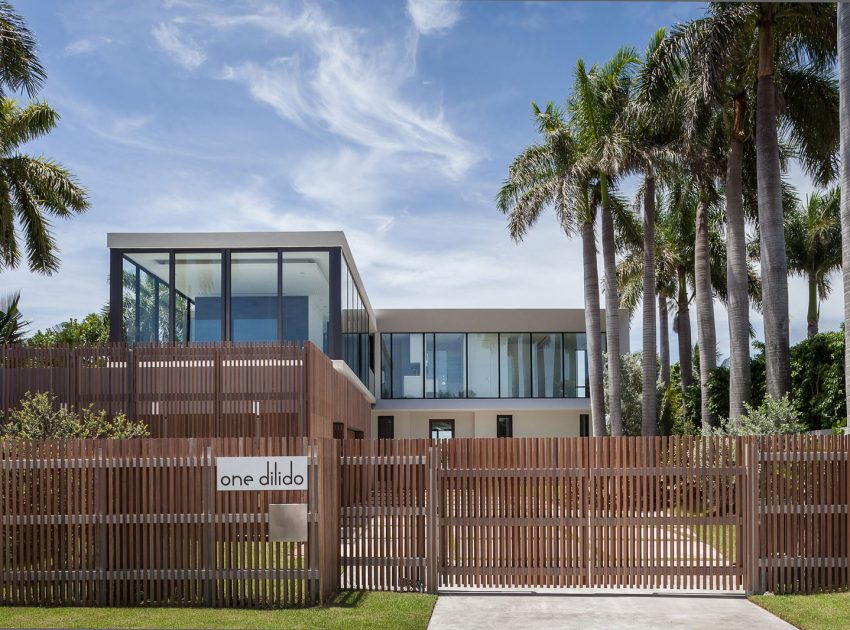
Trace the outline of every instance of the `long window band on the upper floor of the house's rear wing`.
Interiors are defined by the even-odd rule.
[[[584,333],[381,335],[385,399],[587,398],[588,392]]]

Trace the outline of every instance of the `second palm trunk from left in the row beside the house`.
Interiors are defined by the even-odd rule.
[[[617,259],[614,211],[608,205],[608,183],[600,177],[602,190],[602,265],[605,269],[605,340],[608,346],[608,417],[611,435],[623,435],[623,379],[620,359],[620,298],[617,295]]]

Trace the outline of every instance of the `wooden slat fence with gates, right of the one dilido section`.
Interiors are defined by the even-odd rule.
[[[349,588],[847,588],[848,438],[345,441]]]

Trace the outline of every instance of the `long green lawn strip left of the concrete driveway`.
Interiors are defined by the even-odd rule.
[[[344,591],[327,606],[290,610],[0,607],[0,627],[420,630],[428,626],[436,600],[434,595]]]

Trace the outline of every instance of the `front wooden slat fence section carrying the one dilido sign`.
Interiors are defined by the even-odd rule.
[[[0,442],[0,602],[325,601],[339,585],[336,448],[306,438]],[[308,455],[313,490],[217,492],[224,455]],[[269,504],[304,502],[309,542],[269,541]]]

